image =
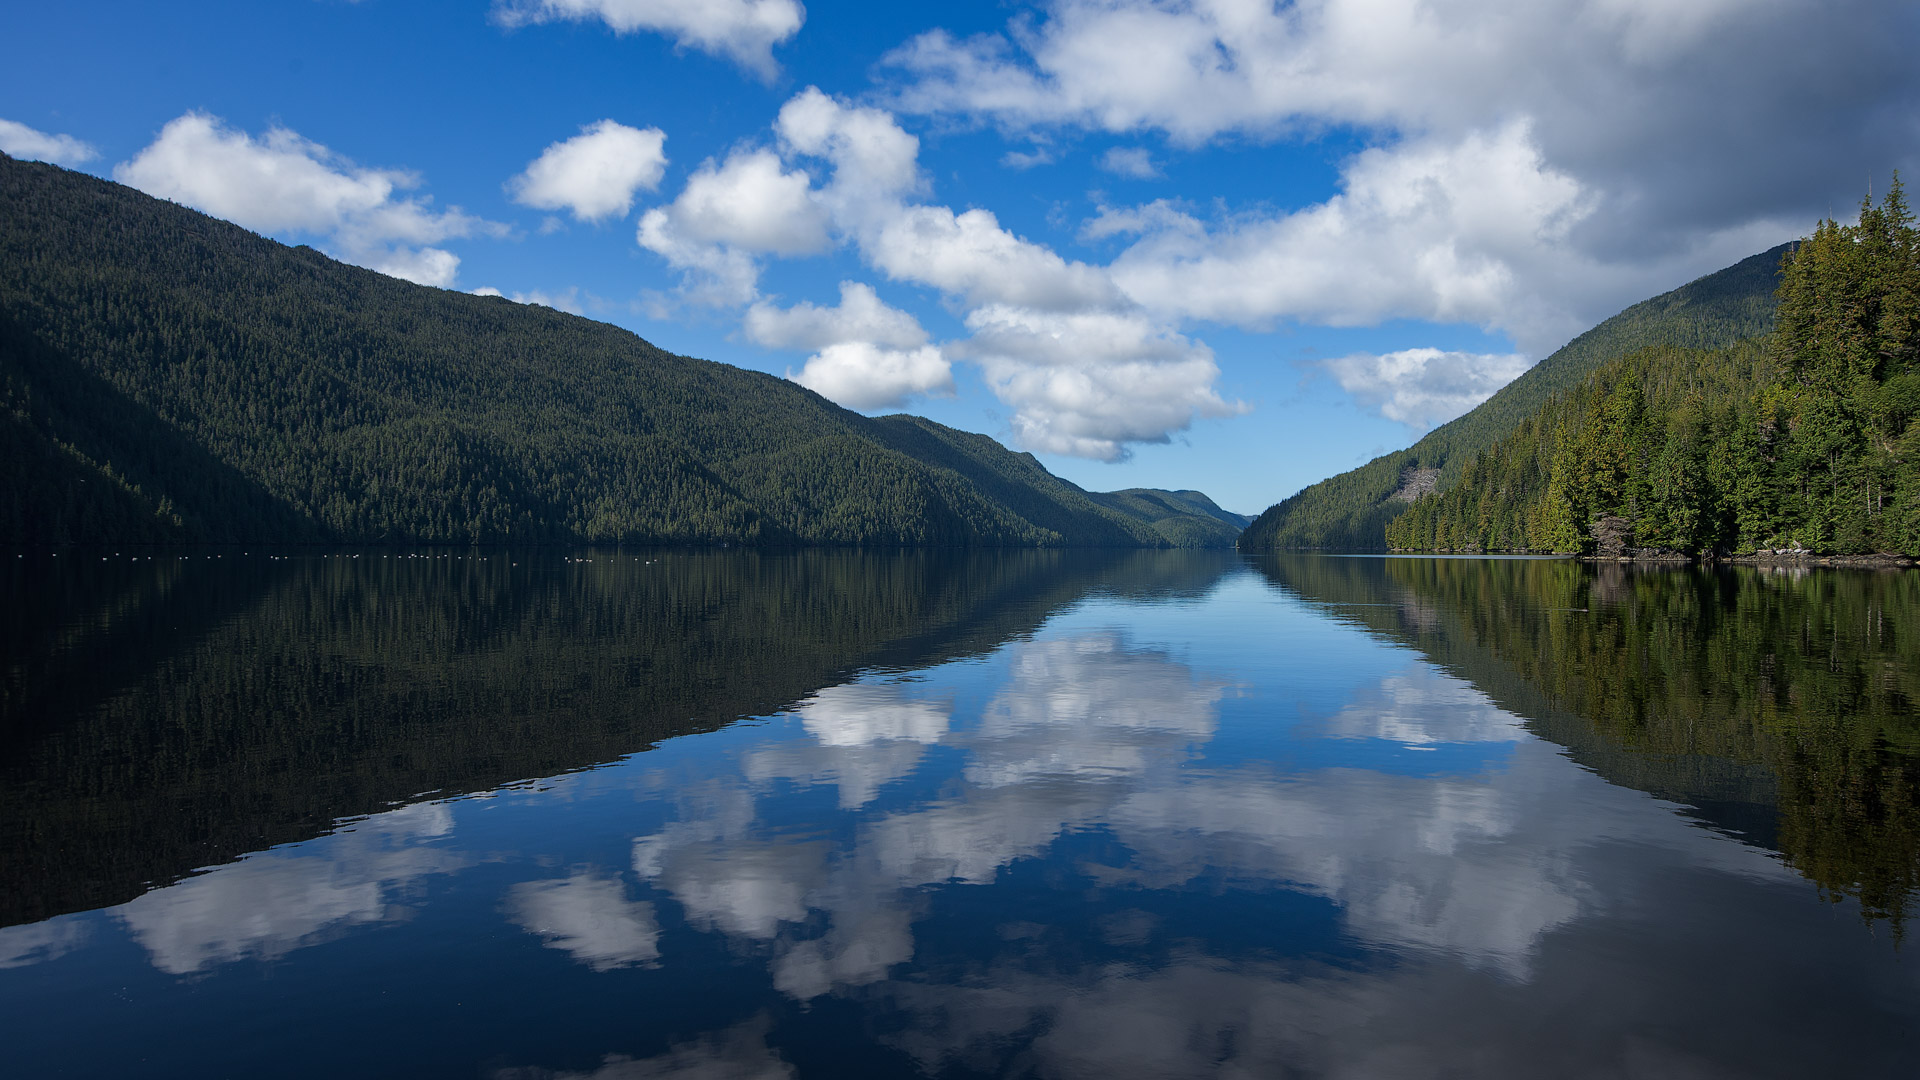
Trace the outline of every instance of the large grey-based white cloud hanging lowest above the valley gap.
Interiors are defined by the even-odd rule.
[[[993,304],[966,325],[973,336],[954,352],[1014,405],[1014,442],[1031,450],[1117,461],[1127,444],[1167,442],[1196,417],[1246,411],[1213,390],[1212,350],[1139,313]]]

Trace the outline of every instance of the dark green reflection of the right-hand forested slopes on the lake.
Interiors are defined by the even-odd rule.
[[[1899,928],[1920,886],[1912,575],[1315,555],[1260,569],[1421,650],[1607,780],[1695,807]]]

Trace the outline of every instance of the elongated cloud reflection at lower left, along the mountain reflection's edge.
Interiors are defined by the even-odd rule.
[[[445,803],[417,803],[157,888],[115,915],[169,974],[276,957],[332,930],[396,917],[392,894],[468,861],[426,844],[451,828]]]

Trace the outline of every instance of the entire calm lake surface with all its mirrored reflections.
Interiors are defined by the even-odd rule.
[[[6,1074],[1920,1051],[1914,573],[8,561]]]

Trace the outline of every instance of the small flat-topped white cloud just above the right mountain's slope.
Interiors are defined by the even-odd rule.
[[[1340,388],[1382,417],[1417,432],[1438,427],[1494,396],[1530,367],[1519,354],[1409,348],[1384,356],[1329,359]]]

